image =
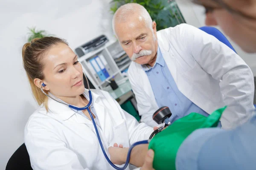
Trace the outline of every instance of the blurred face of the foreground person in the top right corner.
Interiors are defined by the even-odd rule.
[[[205,7],[207,26],[220,26],[244,51],[256,52],[256,0],[193,1]]]

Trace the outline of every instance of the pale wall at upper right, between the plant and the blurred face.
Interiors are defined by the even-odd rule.
[[[176,2],[180,8],[181,13],[183,14],[184,19],[186,20],[186,23],[195,27],[205,26],[204,7],[195,5],[190,0],[176,0]],[[216,28],[218,28],[223,33],[223,31],[218,26]],[[229,37],[227,38],[228,40],[230,40]],[[242,59],[244,59],[247,65],[250,66],[250,68],[253,71],[253,75],[255,77],[256,76],[256,54],[245,53],[232,40],[230,40],[230,43],[233,45],[233,47],[235,48],[239,56]]]

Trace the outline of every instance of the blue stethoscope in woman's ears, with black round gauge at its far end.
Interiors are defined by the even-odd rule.
[[[129,161],[130,161],[131,150],[132,150],[135,146],[137,146],[138,144],[148,144],[148,143],[150,142],[151,138],[152,138],[155,134],[157,134],[158,132],[160,132],[161,130],[163,130],[164,127],[166,127],[167,125],[169,125],[169,123],[167,122],[167,119],[172,115],[172,113],[170,112],[170,110],[169,110],[169,112],[167,111],[167,110],[169,109],[168,107],[166,107],[166,108],[163,108],[163,107],[162,107],[162,108],[158,109],[158,110],[153,114],[153,119],[154,119],[157,123],[158,123],[158,122],[163,123],[162,127],[159,127],[157,130],[155,130],[155,131],[151,134],[151,136],[150,136],[150,138],[149,138],[148,140],[139,141],[139,142],[135,142],[134,144],[132,144],[131,147],[130,147],[129,150],[128,150],[128,154],[127,154],[127,159],[126,159],[126,161],[125,161],[125,165],[124,165],[123,167],[117,167],[117,166],[114,165],[114,164],[111,162],[111,160],[108,158],[108,156],[107,156],[107,154],[106,154],[106,152],[105,152],[105,149],[104,149],[104,147],[103,147],[101,138],[100,138],[100,136],[99,136],[98,128],[97,128],[96,123],[95,123],[95,121],[94,121],[94,119],[93,119],[93,115],[92,115],[92,113],[91,113],[91,111],[90,111],[90,105],[91,105],[91,103],[92,103],[92,101],[93,101],[93,97],[92,97],[92,93],[91,93],[91,91],[90,91],[89,82],[88,82],[88,79],[87,79],[87,77],[86,77],[84,71],[83,71],[83,74],[84,74],[84,77],[85,77],[85,79],[86,79],[87,87],[88,87],[88,90],[89,90],[89,103],[88,103],[85,107],[83,107],[83,108],[78,108],[78,107],[76,107],[76,106],[69,105],[69,104],[67,104],[67,103],[64,103],[64,102],[61,102],[61,101],[58,101],[58,100],[54,99],[52,96],[49,96],[47,93],[44,92],[44,90],[43,90],[43,88],[42,88],[42,87],[45,87],[45,86],[46,86],[44,83],[42,83],[41,91],[42,91],[46,96],[48,96],[49,98],[51,98],[51,99],[53,99],[53,100],[55,100],[56,102],[59,102],[59,103],[61,103],[61,104],[67,105],[69,108],[72,108],[72,109],[75,109],[75,110],[78,110],[78,111],[83,111],[83,110],[87,109],[87,111],[88,111],[88,113],[90,114],[90,117],[91,117],[91,119],[92,119],[93,126],[94,126],[94,128],[95,128],[95,131],[96,131],[96,134],[97,134],[97,137],[98,137],[98,140],[99,140],[99,145],[100,145],[100,147],[101,147],[101,149],[102,149],[102,152],[103,152],[105,158],[107,159],[108,163],[109,163],[113,168],[115,168],[116,170],[125,170],[125,168],[128,166]],[[159,124],[159,123],[158,123],[158,124]]]

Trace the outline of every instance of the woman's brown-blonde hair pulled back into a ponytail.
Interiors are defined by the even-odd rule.
[[[35,85],[34,79],[44,79],[44,63],[42,62],[43,56],[45,52],[47,52],[50,48],[58,45],[59,43],[64,43],[68,45],[66,40],[57,37],[44,37],[35,38],[31,42],[27,42],[26,44],[24,44],[22,48],[23,67],[29,79],[32,93],[38,105],[44,104],[44,107],[47,111],[48,97],[44,95],[41,92],[41,89]]]

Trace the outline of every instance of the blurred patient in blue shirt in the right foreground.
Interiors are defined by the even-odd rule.
[[[207,25],[219,25],[244,51],[256,53],[256,0],[198,0],[197,3],[206,8]],[[256,116],[233,130],[195,130],[173,158],[176,170],[254,170],[255,132]],[[145,156],[145,146],[136,149],[134,152],[142,149],[143,154],[137,153],[132,160],[145,159],[141,170],[153,170],[154,152],[149,150]]]

